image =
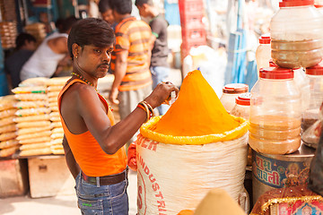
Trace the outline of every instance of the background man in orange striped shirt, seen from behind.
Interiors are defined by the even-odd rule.
[[[131,0],[112,0],[110,5],[118,25],[111,59],[115,79],[109,100],[118,104],[120,118],[125,119],[152,90],[149,70],[152,30],[131,16]]]

